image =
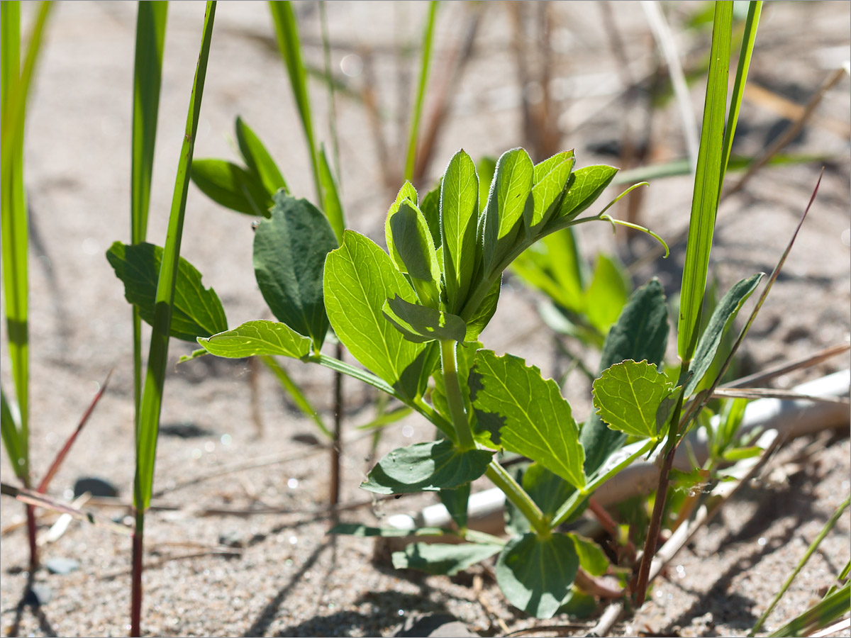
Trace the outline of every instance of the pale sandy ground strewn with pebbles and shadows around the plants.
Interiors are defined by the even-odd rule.
[[[763,14],[751,77],[755,83],[804,104],[842,60],[848,59],[849,3],[768,3]],[[443,6],[438,15],[438,79],[459,42],[469,7]],[[306,57],[321,64],[315,7],[297,4]],[[173,187],[174,168],[185,126],[186,105],[203,20],[202,3],[171,3],[166,43],[162,111],[149,238],[162,243]],[[134,4],[59,3],[49,25],[43,60],[28,112],[26,184],[31,217],[31,427],[32,467],[38,476],[76,424],[90,396],[114,368],[100,402],[51,492],[66,496],[79,476],[101,476],[131,496],[133,478],[132,370],[129,308],[104,253],[111,242],[129,236],[129,124],[134,43]],[[682,23],[686,10],[671,20]],[[31,16],[31,7],[25,15]],[[333,64],[344,55],[371,56],[370,82],[386,115],[392,165],[401,166],[404,135],[396,121],[408,112],[408,85],[415,58],[397,62],[397,47],[419,40],[422,3],[328,3]],[[617,25],[630,72],[639,77],[652,62],[651,39],[637,3],[616,3]],[[511,10],[488,5],[476,48],[451,102],[437,142],[430,179],[458,147],[473,157],[498,155],[527,141],[518,106],[521,89],[511,54]],[[600,152],[620,140],[624,123],[643,122],[641,110],[625,112],[621,77],[612,54],[603,10],[596,3],[561,3],[551,11],[553,94],[561,145],[576,148],[579,165],[617,163]],[[802,23],[808,28],[801,29]],[[311,178],[300,124],[280,60],[271,41],[263,3],[220,3],[204,94],[196,157],[233,157],[229,139],[237,115],[255,129],[276,157],[293,190],[311,197]],[[679,46],[697,60],[706,40],[683,36]],[[271,46],[270,46],[271,45]],[[349,59],[349,63],[353,59]],[[350,69],[351,70],[351,69]],[[342,76],[341,76],[342,77]],[[360,87],[365,73],[348,82]],[[436,81],[437,82],[437,81]],[[700,109],[695,83],[692,99]],[[317,136],[328,140],[327,105],[322,87],[312,84]],[[789,151],[829,156],[819,199],[797,240],[785,271],[751,331],[743,361],[752,369],[807,355],[848,339],[848,137],[851,100],[845,77],[826,96],[817,118]],[[526,90],[534,91],[534,86]],[[426,100],[426,117],[433,103]],[[343,197],[349,224],[380,240],[388,189],[378,162],[379,149],[363,107],[338,100],[338,130]],[[400,115],[401,114],[401,115]],[[746,101],[737,152],[754,153],[776,134],[781,117],[765,104]],[[840,127],[841,130],[841,127]],[[682,129],[673,104],[654,118],[653,161],[683,157]],[[397,148],[398,147],[398,148]],[[822,162],[824,163],[824,162]],[[715,273],[722,287],[755,271],[770,271],[791,236],[814,187],[821,164],[770,168],[719,214]],[[734,178],[736,179],[736,178]],[[608,193],[607,193],[608,194]],[[611,196],[615,191],[612,189]],[[688,220],[688,178],[656,182],[646,191],[642,222],[662,236],[674,236]],[[209,202],[191,187],[181,254],[203,272],[225,305],[228,323],[268,317],[251,267],[251,220]],[[642,239],[627,249],[608,229],[581,231],[593,248],[641,254]],[[657,261],[636,274],[636,282],[658,274],[666,293],[677,293],[683,246],[667,262]],[[545,374],[563,370],[551,333],[536,312],[539,298],[517,280],[505,282],[494,321],[483,335],[498,351],[511,351]],[[3,356],[5,326],[3,326]],[[190,345],[173,342],[174,361]],[[671,356],[673,352],[671,351]],[[2,379],[9,388],[3,359]],[[591,366],[593,356],[589,356]],[[840,357],[810,371],[780,379],[791,385],[803,378],[848,366]],[[288,366],[294,378],[330,420],[330,373],[299,363]],[[393,635],[406,619],[424,612],[449,612],[478,632],[499,634],[499,617],[511,629],[535,624],[505,604],[488,577],[476,567],[457,578],[423,577],[394,571],[372,561],[371,542],[324,535],[321,510],[328,491],[326,453],[304,442],[311,423],[300,418],[271,375],[256,379],[256,399],[264,427],[258,436],[252,413],[248,363],[204,359],[169,367],[163,406],[165,426],[194,436],[163,435],[157,457],[158,504],[174,506],[148,516],[144,626],[147,635]],[[589,409],[589,386],[579,373],[568,379],[565,396],[574,413]],[[374,413],[374,396],[346,381],[346,431]],[[194,428],[194,429],[193,429]],[[168,430],[168,428],[167,428]],[[172,428],[171,431],[181,428]],[[430,437],[427,424],[407,419],[388,430],[380,453]],[[368,470],[368,441],[346,446],[342,500],[365,498],[357,483]],[[183,487],[186,481],[230,464],[296,457],[287,463],[218,476]],[[744,635],[768,604],[781,580],[848,493],[848,438],[840,436],[808,461],[780,478],[750,486],[700,533],[694,544],[660,580],[652,601],[620,626],[626,635]],[[3,481],[11,481],[3,457]],[[392,513],[412,513],[426,497],[403,498],[353,510],[347,520],[375,523]],[[204,509],[295,510],[292,514],[203,516]],[[123,510],[97,510],[117,516]],[[3,499],[2,522],[18,520],[21,508]],[[831,574],[848,561],[846,512],[823,549],[808,564],[769,621],[778,626],[815,600]],[[239,555],[204,554],[220,538],[241,544]],[[19,635],[126,635],[129,618],[129,539],[100,529],[72,525],[45,558],[80,561],[65,576],[44,572],[52,599],[36,614],[18,611],[26,584],[26,533],[3,537],[0,555],[0,617],[3,631]],[[197,555],[203,554],[203,555]],[[196,555],[187,557],[187,555]],[[172,560],[169,560],[172,559]],[[682,569],[680,569],[682,567]],[[479,595],[473,576],[483,576]],[[483,602],[484,601],[484,605]],[[564,622],[556,618],[552,623]],[[581,633],[581,629],[577,629]]]

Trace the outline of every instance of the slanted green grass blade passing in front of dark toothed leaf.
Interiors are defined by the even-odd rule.
[[[157,434],[159,431],[160,409],[163,401],[166,359],[168,357],[168,332],[171,324],[171,310],[174,305],[174,288],[177,282],[177,266],[180,259],[180,238],[183,233],[183,219],[186,213],[186,192],[189,190],[189,169],[195,135],[198,128],[198,115],[201,111],[204,79],[207,75],[210,41],[213,37],[215,2],[207,3],[204,14],[201,54],[198,56],[195,82],[186,117],[186,134],[180,150],[180,162],[177,177],[174,179],[174,197],[171,213],[168,215],[168,234],[163,250],[163,263],[160,267],[157,283],[156,308],[151,330],[151,350],[148,355],[148,367],[145,388],[142,391],[139,428],[136,437],[136,476],[134,481],[134,507],[144,512],[151,504],[153,487],[154,460],[157,453]]]

